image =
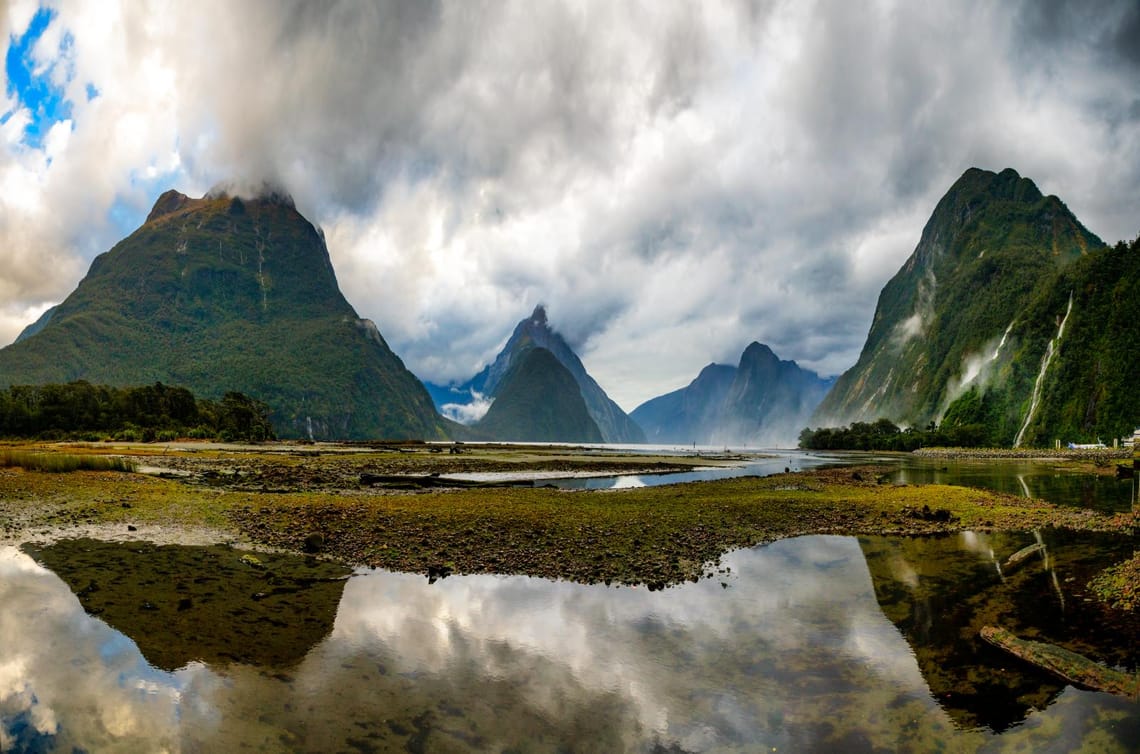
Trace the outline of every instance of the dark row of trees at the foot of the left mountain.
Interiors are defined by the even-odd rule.
[[[269,407],[241,392],[210,400],[161,382],[116,388],[84,380],[0,390],[0,436],[129,441],[276,437]]]

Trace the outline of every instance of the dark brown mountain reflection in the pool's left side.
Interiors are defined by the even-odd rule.
[[[150,665],[287,667],[332,631],[348,570],[226,546],[70,540],[25,550]],[[243,559],[244,558],[244,559]]]

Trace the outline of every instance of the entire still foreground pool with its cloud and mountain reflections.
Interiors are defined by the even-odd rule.
[[[1083,593],[1134,548],[808,536],[653,592],[0,549],[0,751],[1134,752],[1135,702],[977,637],[996,624],[1135,673],[1138,622]]]

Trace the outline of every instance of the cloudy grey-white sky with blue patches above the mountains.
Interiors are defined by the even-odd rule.
[[[1140,3],[0,0],[0,343],[168,188],[288,190],[420,378],[854,364],[970,167],[1140,233]]]

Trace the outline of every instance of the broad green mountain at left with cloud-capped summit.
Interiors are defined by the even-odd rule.
[[[323,235],[272,189],[174,190],[0,349],[0,381],[237,390],[282,437],[442,438],[420,381],[341,294]]]

